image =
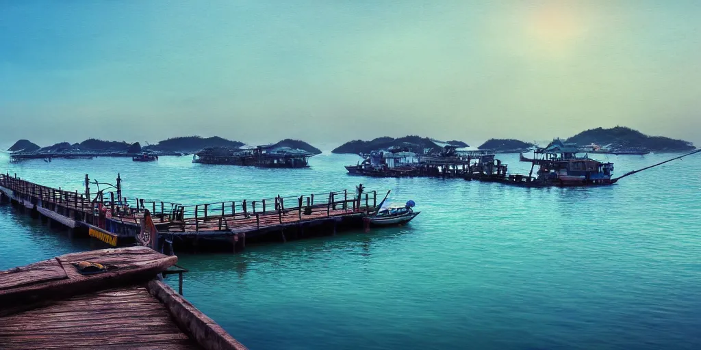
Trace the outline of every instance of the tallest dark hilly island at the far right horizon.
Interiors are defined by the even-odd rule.
[[[652,137],[629,127],[621,126],[610,129],[597,127],[596,129],[585,130],[566,139],[566,142],[577,144],[578,146],[592,144],[605,146],[614,151],[626,148],[645,148],[653,152],[685,152],[696,149],[689,141],[660,136]]]

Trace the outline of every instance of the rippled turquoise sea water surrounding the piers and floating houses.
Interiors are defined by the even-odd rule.
[[[608,159],[623,174],[671,157]],[[566,189],[347,176],[356,161],[319,155],[312,169],[268,170],[0,155],[8,172],[69,189],[86,173],[114,182],[121,172],[125,195],[147,200],[252,200],[362,181],[416,201],[422,214],[400,228],[179,255],[185,296],[251,349],[701,348],[701,156]],[[0,269],[86,248],[0,207]]]

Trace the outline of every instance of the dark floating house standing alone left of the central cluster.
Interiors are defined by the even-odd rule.
[[[208,147],[195,153],[193,163],[266,168],[304,168],[312,153],[289,147],[257,146],[250,149]]]

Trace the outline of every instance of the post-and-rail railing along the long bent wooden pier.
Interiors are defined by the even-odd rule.
[[[37,208],[43,207],[76,221],[128,235],[140,230],[140,220],[147,210],[158,225],[158,230],[174,233],[238,232],[362,214],[372,211],[379,204],[374,190],[365,190],[360,195],[355,190],[340,190],[299,197],[278,195],[261,200],[183,205],[122,197],[121,192],[107,192],[104,189],[90,194],[87,186],[86,193],[82,194],[41,186],[9,174],[0,174],[0,186],[11,190],[15,200],[25,204],[34,204]],[[114,223],[123,225],[111,226]],[[125,229],[125,226],[128,228]]]

